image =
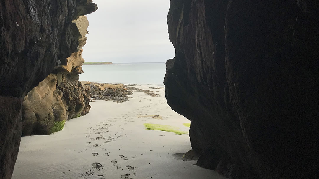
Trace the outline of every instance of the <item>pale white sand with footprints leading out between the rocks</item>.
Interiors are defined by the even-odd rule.
[[[173,154],[191,149],[189,135],[146,130],[143,124],[166,124],[188,131],[189,127],[182,123],[190,121],[167,105],[164,89],[149,88],[163,86],[134,87],[152,90],[161,96],[133,92],[133,99],[124,103],[95,100],[90,102],[89,114],[69,120],[62,131],[22,137],[12,178],[118,179],[130,174],[127,178],[225,179],[213,170],[193,165],[194,161],[173,158]],[[137,117],[157,114],[163,119]],[[103,167],[92,167],[94,162]]]

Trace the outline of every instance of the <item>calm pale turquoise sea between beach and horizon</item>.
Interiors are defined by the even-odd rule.
[[[163,85],[165,63],[133,63],[119,65],[82,65],[80,81]]]

